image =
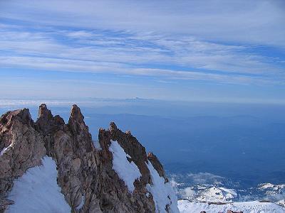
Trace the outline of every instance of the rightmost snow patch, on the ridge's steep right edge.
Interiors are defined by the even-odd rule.
[[[165,207],[168,204],[170,206],[170,212],[178,213],[177,197],[170,182],[165,182],[165,178],[158,175],[157,170],[153,168],[150,161],[147,162],[147,168],[150,170],[152,180],[152,185],[147,184],[147,190],[152,193],[155,202],[155,211],[160,213],[166,212]]]

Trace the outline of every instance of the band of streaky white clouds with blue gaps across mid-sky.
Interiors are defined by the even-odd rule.
[[[53,28],[15,29],[0,35],[0,65],[37,70],[143,75],[226,83],[280,83],[275,58],[247,45],[225,45],[191,36]],[[7,55],[8,54],[8,55]],[[269,72],[270,70],[270,72]]]

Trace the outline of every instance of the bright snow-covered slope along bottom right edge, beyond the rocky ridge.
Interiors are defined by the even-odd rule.
[[[271,202],[234,202],[229,204],[208,204],[205,202],[190,202],[189,200],[179,200],[178,208],[181,213],[226,213],[227,210],[244,213],[284,213],[285,207]]]

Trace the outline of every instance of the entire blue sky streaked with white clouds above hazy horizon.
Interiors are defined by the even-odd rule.
[[[0,0],[0,96],[285,104],[284,1]]]

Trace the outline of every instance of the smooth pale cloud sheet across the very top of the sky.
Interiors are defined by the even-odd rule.
[[[1,2],[1,17],[48,26],[160,31],[202,39],[284,45],[283,1]],[[43,15],[44,14],[44,15]]]

